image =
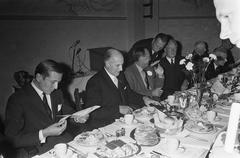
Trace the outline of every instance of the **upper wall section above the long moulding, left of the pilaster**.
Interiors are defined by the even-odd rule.
[[[1,0],[3,16],[125,17],[126,0]]]

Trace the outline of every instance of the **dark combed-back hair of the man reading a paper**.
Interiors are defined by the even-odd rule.
[[[62,67],[60,66],[59,63],[57,63],[54,60],[47,59],[47,60],[40,62],[37,65],[34,74],[35,74],[35,76],[36,76],[36,74],[41,74],[44,77],[47,77],[47,76],[49,76],[50,71],[61,73],[61,74],[63,73]]]

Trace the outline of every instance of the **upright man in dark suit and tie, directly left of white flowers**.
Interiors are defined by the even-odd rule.
[[[168,95],[172,95],[175,91],[185,90],[188,85],[185,73],[179,64],[182,58],[176,56],[177,42],[170,39],[164,51],[166,56],[160,60],[165,76],[161,99],[166,99]]]

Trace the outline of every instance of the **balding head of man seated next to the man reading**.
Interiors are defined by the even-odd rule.
[[[105,69],[113,76],[118,76],[122,71],[124,59],[122,53],[117,49],[108,49],[104,56]]]

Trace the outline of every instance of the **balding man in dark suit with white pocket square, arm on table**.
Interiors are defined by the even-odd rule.
[[[104,56],[104,68],[88,80],[85,106],[100,105],[91,113],[87,125],[89,129],[103,127],[118,119],[121,114],[145,104],[158,104],[148,97],[132,91],[122,71],[124,59],[116,49],[109,49]]]

